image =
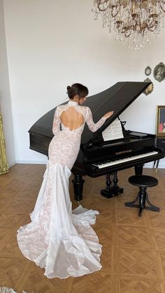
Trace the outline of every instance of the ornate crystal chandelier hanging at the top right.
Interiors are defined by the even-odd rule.
[[[103,27],[115,31],[117,41],[141,50],[164,27],[165,0],[94,0],[92,12],[95,20],[101,14]]]

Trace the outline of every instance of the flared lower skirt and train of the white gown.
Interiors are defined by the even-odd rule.
[[[48,162],[31,222],[20,227],[22,254],[45,268],[48,278],[78,277],[101,269],[101,244],[91,227],[96,210],[72,211],[67,166]]]

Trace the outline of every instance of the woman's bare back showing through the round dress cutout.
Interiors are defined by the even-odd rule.
[[[60,115],[60,120],[64,127],[70,130],[80,128],[85,122],[82,113],[78,112],[74,107],[69,107],[67,110],[64,110]]]

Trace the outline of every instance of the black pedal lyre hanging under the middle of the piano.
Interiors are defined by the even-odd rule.
[[[111,174],[112,175],[112,174]],[[123,188],[120,188],[117,185],[117,172],[113,173],[113,187],[111,186],[112,182],[110,180],[110,173],[106,175],[106,190],[101,190],[101,195],[105,196],[107,199],[110,197],[117,196],[123,193]]]

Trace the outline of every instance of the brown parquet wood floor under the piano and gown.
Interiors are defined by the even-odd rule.
[[[134,169],[118,173],[124,196],[100,195],[105,178],[85,178],[82,206],[99,210],[94,230],[103,245],[103,268],[80,278],[48,279],[36,264],[24,258],[17,229],[29,222],[41,186],[44,165],[16,164],[0,176],[0,285],[17,292],[34,293],[165,293],[165,169],[144,169],[159,185],[148,189],[150,201],[160,213],[124,206],[135,198],[137,188],[128,183]],[[72,178],[71,178],[72,179]],[[70,184],[73,200],[73,186]],[[73,201],[73,208],[78,203]]]

